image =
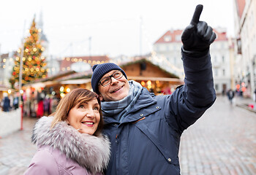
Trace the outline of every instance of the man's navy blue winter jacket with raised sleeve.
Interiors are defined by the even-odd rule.
[[[143,88],[122,123],[104,117],[111,141],[105,174],[180,174],[181,133],[216,99],[210,55],[195,59],[182,53],[182,59],[185,85],[172,95],[154,96]]]

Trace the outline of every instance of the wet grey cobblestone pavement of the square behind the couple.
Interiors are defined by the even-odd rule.
[[[239,101],[239,99],[237,99]],[[36,118],[24,117],[23,131],[0,139],[0,175],[20,175],[37,150],[31,144]],[[181,136],[184,175],[256,174],[256,113],[218,96],[214,105]]]

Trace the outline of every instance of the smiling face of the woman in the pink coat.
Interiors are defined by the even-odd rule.
[[[77,104],[70,109],[67,123],[80,133],[93,135],[98,128],[100,120],[99,104],[96,98],[91,101]]]

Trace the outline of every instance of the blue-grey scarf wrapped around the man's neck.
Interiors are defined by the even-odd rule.
[[[129,109],[138,100],[142,86],[133,80],[129,81],[129,94],[120,101],[102,101],[102,113],[105,117],[113,117],[118,122],[122,122],[127,116]]]

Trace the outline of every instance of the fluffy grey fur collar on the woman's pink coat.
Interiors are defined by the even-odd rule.
[[[59,149],[91,173],[102,172],[108,166],[110,141],[107,137],[79,133],[63,121],[50,129],[52,120],[53,117],[42,117],[37,121],[32,134],[34,144]]]

